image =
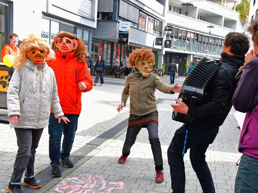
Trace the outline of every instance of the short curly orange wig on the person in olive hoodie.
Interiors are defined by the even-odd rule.
[[[133,50],[133,52],[129,55],[130,66],[135,67],[136,59],[149,60],[153,66],[155,65],[155,57],[152,49],[142,47],[141,49]]]

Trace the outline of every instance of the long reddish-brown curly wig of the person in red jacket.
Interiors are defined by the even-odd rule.
[[[74,36],[73,34],[67,33],[67,32],[59,33],[59,34],[57,34],[57,37],[60,37],[60,38],[68,37],[71,39],[76,39],[78,41],[78,47],[74,51],[75,51],[75,55],[77,56],[77,62],[79,62],[80,64],[83,64],[84,62],[87,61],[86,53],[85,53],[86,48],[84,46],[82,39],[79,39],[76,36]],[[55,46],[54,42],[52,42],[51,47],[54,51],[58,50],[58,48]]]

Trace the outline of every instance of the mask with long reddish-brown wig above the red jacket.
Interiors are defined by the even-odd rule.
[[[77,62],[81,64],[86,62],[86,49],[83,41],[71,33],[59,33],[52,42],[52,49],[54,51],[59,50],[64,54],[74,51],[77,56]]]

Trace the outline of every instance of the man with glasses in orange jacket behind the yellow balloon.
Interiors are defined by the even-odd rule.
[[[16,33],[12,33],[10,35],[10,43],[5,44],[4,48],[2,49],[1,62],[3,62],[3,57],[7,54],[11,54],[13,56],[20,54],[20,48],[16,46],[18,44],[18,41],[18,35]]]

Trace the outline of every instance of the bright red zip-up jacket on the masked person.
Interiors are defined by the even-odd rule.
[[[92,89],[92,78],[88,66],[85,62],[83,64],[77,62],[74,51],[62,54],[57,50],[55,54],[55,60],[47,62],[47,65],[55,73],[62,110],[64,113],[78,115],[82,109],[82,92]],[[86,90],[80,90],[79,82],[86,84]]]

